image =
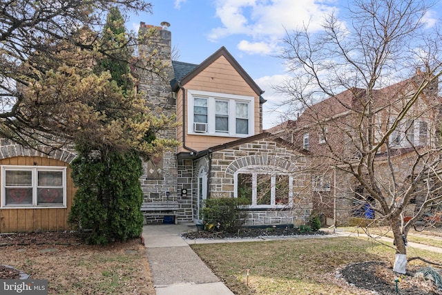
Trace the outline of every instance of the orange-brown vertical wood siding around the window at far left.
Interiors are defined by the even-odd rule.
[[[39,157],[15,157],[3,159],[2,165],[26,166],[68,166],[55,159]],[[71,169],[66,170],[66,206],[67,208],[38,209],[0,209],[0,233],[21,231],[63,231],[68,230],[68,212],[73,204],[75,187],[70,178]]]

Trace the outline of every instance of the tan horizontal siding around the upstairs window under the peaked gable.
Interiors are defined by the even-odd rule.
[[[198,75],[193,77],[191,81],[184,85],[186,90],[208,91],[214,93],[227,93],[232,95],[244,95],[254,97],[254,134],[260,133],[260,110],[259,110],[259,96],[253,89],[242,79],[240,74],[231,66],[225,57],[220,57],[213,64],[207,66]],[[187,97],[186,97],[187,99]],[[187,115],[186,104],[186,115]],[[185,131],[187,131],[187,116]],[[177,122],[182,122],[182,94],[181,91],[177,95]],[[224,144],[233,140],[238,140],[240,137],[217,137],[217,136],[198,136],[186,134],[186,146],[197,151],[209,149],[211,146]],[[182,126],[177,129],[177,140],[182,141]],[[182,147],[178,152],[188,152]]]

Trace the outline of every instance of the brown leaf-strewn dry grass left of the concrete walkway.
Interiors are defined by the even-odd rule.
[[[48,294],[155,294],[139,239],[108,247],[34,243],[0,251],[1,265],[48,280]]]

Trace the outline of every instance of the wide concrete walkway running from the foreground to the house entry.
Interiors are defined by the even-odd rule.
[[[195,225],[145,225],[144,245],[157,295],[233,295],[180,237]]]

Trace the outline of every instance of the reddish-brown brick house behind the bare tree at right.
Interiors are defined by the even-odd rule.
[[[374,214],[364,208],[373,201],[369,194],[349,174],[334,169],[336,165],[352,162],[357,166],[366,147],[361,140],[372,136],[372,144],[380,144],[374,159],[378,171],[381,175],[384,173],[376,180],[380,187],[392,187],[391,182],[387,183],[392,181],[389,164],[396,167],[398,179],[406,179],[416,151],[431,149],[439,141],[441,99],[437,86],[421,93],[407,115],[396,122],[419,85],[420,75],[417,73],[403,82],[374,90],[371,110],[364,104],[365,90],[351,88],[310,106],[296,121],[287,121],[269,130],[291,142],[295,149],[304,149],[311,155],[309,165],[311,171],[316,171],[311,177],[313,207],[325,217],[328,225],[345,225],[350,216],[373,217],[365,216]],[[371,122],[365,116],[368,111],[374,114]],[[396,128],[381,142],[394,122]],[[369,135],[367,126],[374,126],[373,134]],[[393,155],[392,163],[387,161],[387,153]]]

